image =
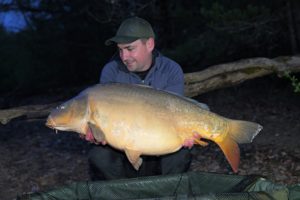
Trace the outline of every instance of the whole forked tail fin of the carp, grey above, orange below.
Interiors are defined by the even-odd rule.
[[[261,130],[262,126],[254,122],[230,120],[228,133],[222,139],[215,141],[222,149],[234,172],[238,171],[240,163],[238,144],[252,142]]]

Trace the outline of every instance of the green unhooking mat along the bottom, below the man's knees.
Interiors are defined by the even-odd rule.
[[[17,199],[300,200],[300,184],[285,186],[258,176],[189,172],[169,176],[78,182],[46,192],[24,194]]]

